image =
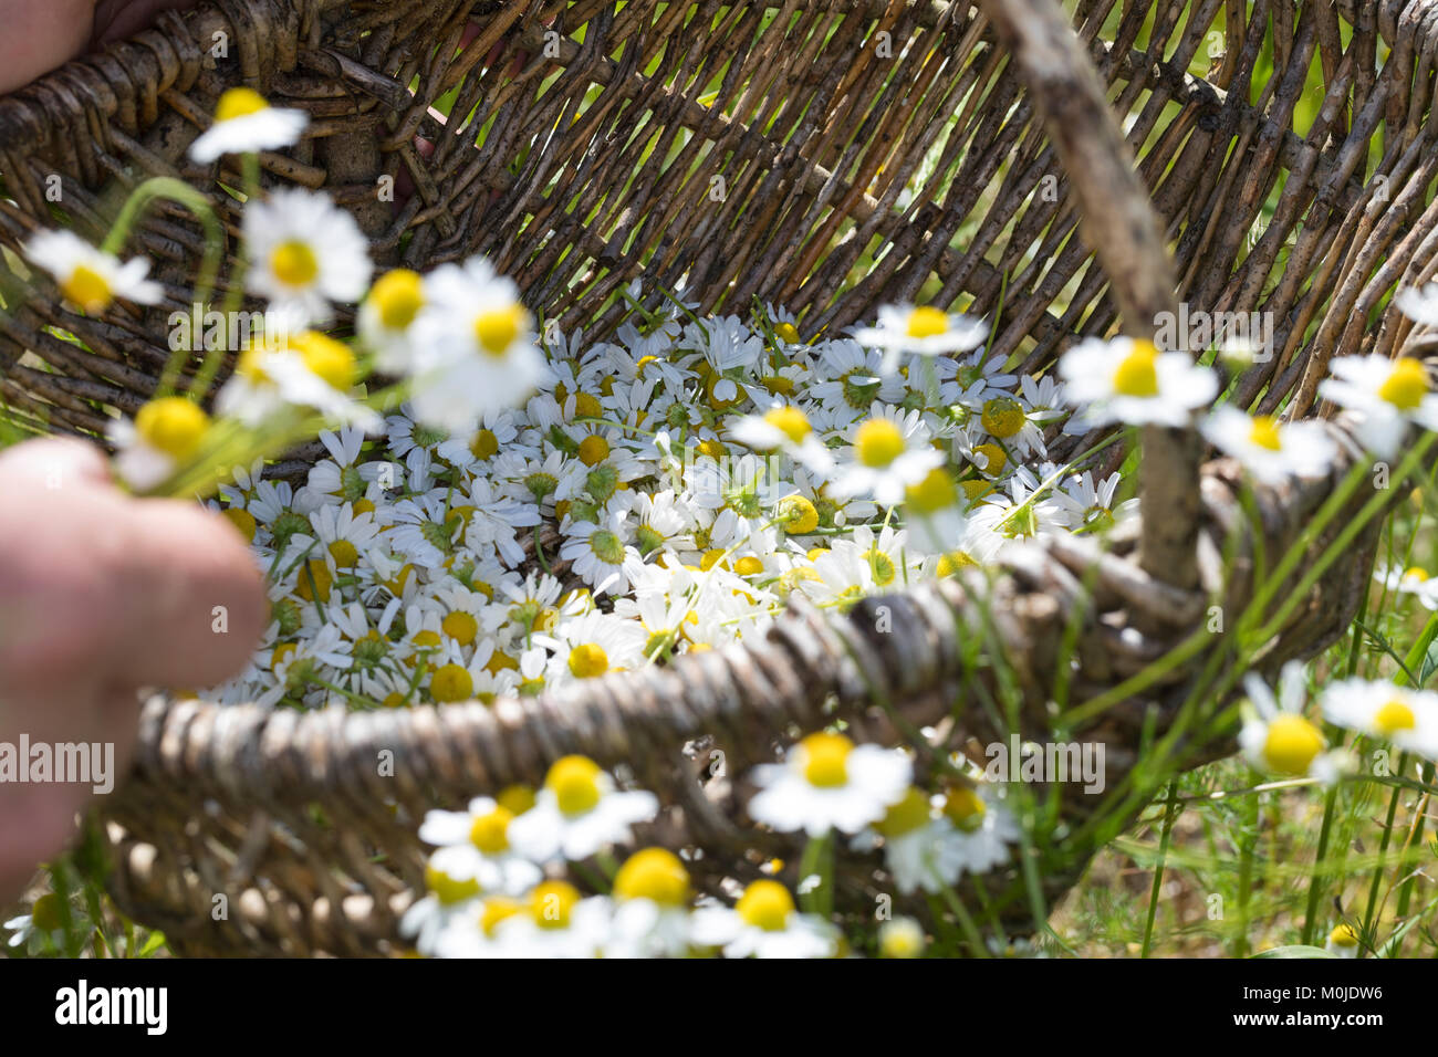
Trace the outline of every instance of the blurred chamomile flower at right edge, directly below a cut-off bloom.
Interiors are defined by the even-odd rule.
[[[1373,454],[1392,459],[1409,423],[1438,429],[1438,394],[1421,360],[1389,360],[1376,352],[1339,357],[1329,371],[1333,377],[1320,383],[1319,393],[1359,413],[1359,440]]]

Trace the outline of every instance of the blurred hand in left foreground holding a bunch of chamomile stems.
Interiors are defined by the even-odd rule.
[[[124,775],[141,687],[229,677],[266,610],[263,578],[223,518],[125,495],[99,449],[78,440],[0,453],[0,743],[108,742]],[[92,795],[0,784],[0,905],[65,846]]]

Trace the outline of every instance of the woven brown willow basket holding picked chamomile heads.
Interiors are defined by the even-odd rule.
[[[636,278],[693,292],[703,312],[784,305],[805,337],[929,283],[930,303],[1001,308],[994,355],[1037,372],[1081,335],[1152,334],[1182,301],[1270,314],[1274,355],[1240,377],[1237,400],[1271,411],[1291,398],[1301,416],[1319,410],[1332,357],[1422,352],[1379,308],[1438,266],[1435,53],[1432,0],[214,0],[0,101],[0,242],[53,223],[98,240],[152,174],[207,188],[233,233],[221,184],[239,174],[197,168],[186,148],[219,93],[247,83],[312,115],[299,147],[262,157],[266,183],[325,188],[381,265],[489,255],[567,331],[608,334],[623,311],[611,295]],[[1204,55],[1206,76],[1192,76]],[[1297,134],[1314,60],[1327,95]],[[456,116],[431,109],[441,96]],[[385,178],[393,203],[377,193]],[[106,407],[134,413],[165,362],[165,318],[187,308],[200,232],[180,211],[152,213],[127,249],[158,263],[170,303],[93,319],[53,290],[9,286],[0,393],[53,431],[93,436]],[[856,267],[866,255],[877,263]],[[1054,454],[1074,440],[1054,439]],[[102,808],[108,886],[180,952],[394,953],[421,884],[423,813],[538,782],[567,752],[656,790],[666,810],[643,838],[692,848],[702,887],[746,882],[772,856],[792,863],[789,840],[743,815],[736,777],[749,764],[835,718],[860,739],[916,742],[920,771],[935,754],[1007,741],[999,667],[1017,673],[1022,736],[1048,739],[1057,676],[1070,700],[1091,699],[1188,637],[1209,605],[1240,611],[1257,546],[1324,546],[1303,529],[1359,457],[1345,443],[1330,480],[1260,489],[1254,532],[1232,465],[1199,470],[1181,433],[1150,431],[1145,450],[1142,525],[1103,554],[1048,544],[841,617],[795,605],[762,641],[562,693],[348,715],[155,696],[129,782]],[[303,472],[311,456],[273,473]],[[1313,585],[1264,672],[1342,633],[1372,546],[1369,529]],[[1058,672],[1066,637],[1077,662]],[[1205,659],[1063,732],[1106,743],[1110,790]],[[1229,735],[1185,743],[1185,764],[1231,751]],[[1057,790],[1071,854],[1041,863],[1050,906],[1104,838],[1083,823],[1106,801],[1074,788]],[[1150,792],[1142,775],[1137,788]],[[871,916],[876,861],[841,853],[840,866],[838,907]],[[981,923],[1032,930],[1020,870],[986,880],[961,890]]]

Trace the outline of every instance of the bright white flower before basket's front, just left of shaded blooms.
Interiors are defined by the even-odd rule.
[[[781,833],[857,833],[903,798],[910,771],[909,758],[896,749],[811,733],[782,764],[754,768],[759,792],[749,801],[749,815]]]

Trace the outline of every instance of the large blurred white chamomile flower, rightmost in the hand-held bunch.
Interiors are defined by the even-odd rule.
[[[533,318],[513,280],[483,257],[441,265],[424,293],[410,403],[427,424],[470,434],[486,410],[518,406],[544,378]]]

